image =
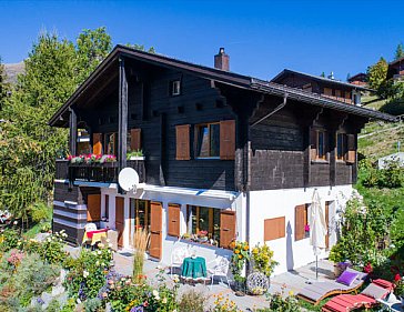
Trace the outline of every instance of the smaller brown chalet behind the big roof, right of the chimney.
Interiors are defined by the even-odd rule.
[[[372,91],[363,85],[347,83],[314,74],[285,69],[275,76],[271,82],[302,89],[307,92],[344,102],[347,104],[361,104],[361,92]]]

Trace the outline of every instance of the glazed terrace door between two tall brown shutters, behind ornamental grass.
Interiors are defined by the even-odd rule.
[[[133,246],[134,231],[144,229],[150,232],[150,201],[130,199],[130,239],[129,242]]]

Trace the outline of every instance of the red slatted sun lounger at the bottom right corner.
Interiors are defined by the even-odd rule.
[[[371,309],[380,304],[394,289],[394,284],[385,280],[375,280],[360,294],[340,294],[330,300],[322,308],[323,312],[349,312],[365,308]]]

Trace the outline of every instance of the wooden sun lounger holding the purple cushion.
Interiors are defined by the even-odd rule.
[[[358,272],[351,268],[346,270],[358,274],[350,286],[339,283],[336,282],[336,280],[330,280],[325,282],[314,282],[302,289],[297,293],[297,298],[307,301],[314,305],[317,305],[323,299],[329,298],[331,295],[351,293],[357,291],[367,279],[367,274]]]

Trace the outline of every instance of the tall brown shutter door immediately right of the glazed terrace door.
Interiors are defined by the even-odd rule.
[[[161,202],[152,201],[150,203],[150,214],[151,214],[151,222],[150,222],[150,256],[161,259],[162,252],[162,213],[163,208]]]

